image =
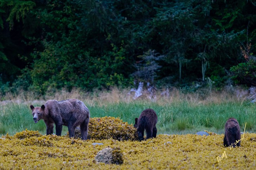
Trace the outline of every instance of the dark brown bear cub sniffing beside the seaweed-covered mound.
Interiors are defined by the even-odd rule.
[[[144,130],[146,130],[147,138],[156,138],[157,115],[153,109],[145,109],[139,118],[135,118],[134,128],[137,128],[139,141],[144,140]]]

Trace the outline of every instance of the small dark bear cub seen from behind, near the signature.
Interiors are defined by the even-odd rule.
[[[230,118],[225,124],[224,147],[240,146],[241,133],[239,123],[235,118]]]

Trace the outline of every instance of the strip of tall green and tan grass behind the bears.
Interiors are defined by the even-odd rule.
[[[161,91],[161,90],[159,90]],[[142,110],[152,108],[158,116],[157,133],[186,134],[197,131],[214,131],[224,133],[224,125],[229,117],[235,117],[241,131],[247,122],[246,131],[256,130],[256,105],[236,93],[222,91],[204,93],[183,93],[173,89],[169,96],[157,93],[152,101],[147,95],[134,100],[129,90],[114,88],[108,92],[95,91],[84,93],[78,89],[50,91],[40,97],[33,93],[6,94],[0,102],[0,134],[10,135],[25,129],[38,130],[45,134],[43,121],[33,122],[30,104],[40,106],[49,99],[65,100],[76,98],[82,100],[89,108],[91,117],[120,117],[129,124],[134,124]],[[235,91],[233,91],[235,92]],[[64,127],[62,135],[66,134]]]

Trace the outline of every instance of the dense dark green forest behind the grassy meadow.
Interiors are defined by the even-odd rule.
[[[255,0],[0,0],[0,92],[256,86]]]

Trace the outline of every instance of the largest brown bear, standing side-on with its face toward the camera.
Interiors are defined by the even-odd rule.
[[[55,124],[56,135],[61,136],[62,125],[67,126],[69,137],[74,137],[76,126],[80,125],[83,140],[87,139],[88,123],[90,119],[89,109],[77,99],[48,100],[41,107],[30,105],[34,122],[40,119],[46,124],[46,134],[52,134]]]

